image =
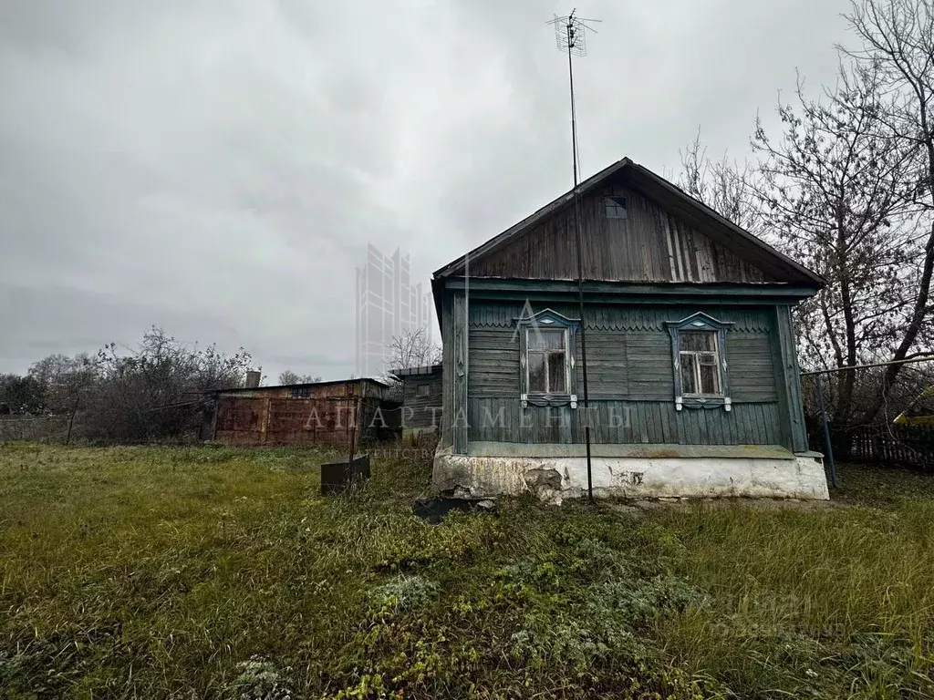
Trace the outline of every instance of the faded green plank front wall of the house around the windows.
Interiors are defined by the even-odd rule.
[[[571,318],[574,304],[549,308]],[[540,311],[534,308],[533,312]],[[732,411],[675,411],[666,321],[704,311],[733,322],[727,331]],[[470,306],[467,420],[471,441],[581,442],[581,409],[520,405],[518,302]],[[526,311],[528,314],[528,310]],[[775,360],[773,308],[587,306],[591,440],[622,443],[789,444]],[[580,343],[575,343],[583,400]],[[790,446],[790,445],[789,445]]]

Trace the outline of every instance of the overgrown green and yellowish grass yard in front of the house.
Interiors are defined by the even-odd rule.
[[[432,526],[327,456],[0,445],[0,698],[934,697],[932,477]]]

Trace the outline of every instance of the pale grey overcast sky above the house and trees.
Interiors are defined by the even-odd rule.
[[[605,0],[581,165],[747,152],[845,0]],[[267,382],[354,369],[372,243],[433,270],[570,188],[550,0],[0,1],[0,371],[155,324]]]

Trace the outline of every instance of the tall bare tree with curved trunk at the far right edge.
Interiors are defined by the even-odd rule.
[[[931,0],[852,0],[845,16],[862,42],[859,49],[840,47],[866,70],[876,71],[882,91],[892,95],[878,119],[889,137],[902,148],[916,148],[918,162],[913,199],[923,209],[925,231],[918,236],[923,254],[913,260],[909,272],[912,302],[905,316],[904,332],[893,343],[891,359],[909,353],[929,332],[934,273],[934,5]],[[900,365],[884,373],[877,397],[865,412],[873,418],[884,405]]]

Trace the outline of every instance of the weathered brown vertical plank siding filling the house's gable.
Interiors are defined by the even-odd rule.
[[[629,198],[628,217],[607,218],[604,198]],[[581,200],[582,262],[590,280],[775,282],[633,189],[612,185]],[[490,254],[472,260],[476,277],[576,279],[573,207],[561,207]]]

